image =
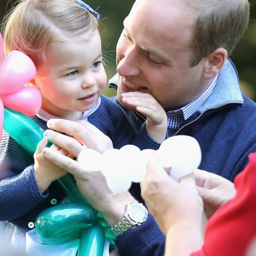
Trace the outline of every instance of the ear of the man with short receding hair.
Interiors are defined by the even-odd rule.
[[[212,79],[221,71],[227,59],[227,51],[224,48],[218,48],[207,56],[208,64],[203,72],[203,77]]]

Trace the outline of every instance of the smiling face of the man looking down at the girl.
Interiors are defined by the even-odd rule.
[[[189,40],[193,15],[173,0],[136,0],[117,43],[117,96],[147,92],[164,109],[177,109],[197,98],[210,83],[206,60],[191,68]],[[176,2],[176,1],[175,1]]]

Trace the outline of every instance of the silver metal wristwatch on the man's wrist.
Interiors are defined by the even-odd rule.
[[[147,215],[147,208],[142,203],[128,203],[124,217],[109,228],[109,232],[114,237],[119,237],[131,227],[141,225],[147,219]]]

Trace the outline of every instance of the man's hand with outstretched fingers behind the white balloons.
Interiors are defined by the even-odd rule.
[[[101,153],[113,148],[109,137],[86,121],[73,122],[53,119],[48,121],[48,127],[55,130],[47,130],[45,132],[48,140],[58,145],[64,151],[68,151],[69,154],[74,155],[76,158],[82,151],[83,145],[98,150]],[[113,193],[109,190],[105,177],[101,172],[87,172],[77,161],[64,154],[60,154],[51,147],[43,148],[42,153],[50,162],[53,162],[74,176],[81,195],[95,210],[102,214],[109,223],[109,226],[114,226],[124,216],[127,203],[136,202],[128,192],[113,198]]]

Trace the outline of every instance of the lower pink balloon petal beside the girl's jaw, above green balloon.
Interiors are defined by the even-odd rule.
[[[38,113],[42,104],[40,91],[35,87],[24,86],[12,94],[0,95],[4,105],[26,116]]]

